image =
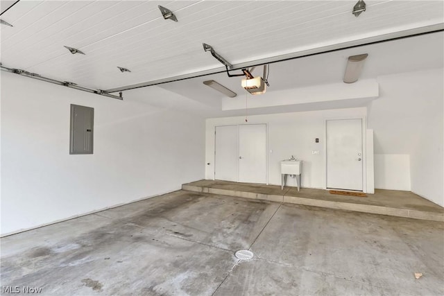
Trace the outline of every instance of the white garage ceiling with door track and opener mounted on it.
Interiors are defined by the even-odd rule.
[[[356,1],[21,0],[1,15],[13,25],[0,26],[1,63],[112,89],[220,69],[203,50],[203,42],[232,64],[242,64],[444,23],[441,0],[367,0],[367,10],[359,17],[351,13]],[[1,11],[14,2],[2,0]],[[178,22],[163,19],[157,5],[172,10]],[[72,55],[64,45],[86,55]],[[273,63],[267,92],[341,82],[348,55],[364,52],[369,57],[362,78],[443,67],[443,33]],[[117,66],[131,73],[121,73]],[[258,67],[255,73],[261,71]],[[208,79],[242,92],[240,78],[224,73],[157,89],[220,110],[221,96],[202,85]],[[144,96],[153,92],[150,88],[128,93]]]

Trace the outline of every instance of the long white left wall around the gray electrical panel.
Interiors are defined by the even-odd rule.
[[[205,121],[1,72],[1,234],[203,179]],[[94,107],[94,155],[69,155],[70,104]]]

